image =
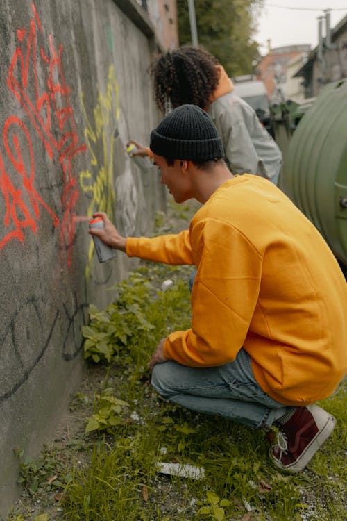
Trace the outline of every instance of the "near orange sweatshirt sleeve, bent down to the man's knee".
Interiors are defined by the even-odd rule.
[[[260,290],[262,257],[237,229],[205,219],[192,228],[198,267],[192,290],[192,328],[171,333],[164,356],[212,367],[235,360]]]

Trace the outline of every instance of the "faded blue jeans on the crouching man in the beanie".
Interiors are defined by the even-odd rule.
[[[219,367],[187,367],[174,361],[156,364],[151,383],[170,402],[257,429],[269,429],[291,408],[260,388],[244,349],[234,362]]]

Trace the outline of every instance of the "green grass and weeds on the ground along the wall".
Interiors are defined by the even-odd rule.
[[[175,211],[172,204],[171,214]],[[189,211],[189,206],[180,208],[181,228],[189,220]],[[176,231],[171,223],[160,224]],[[151,388],[148,364],[155,343],[169,331],[189,326],[191,270],[143,263],[117,287],[119,307],[96,313],[95,331],[103,328],[103,333],[93,340],[94,353],[99,347],[103,350],[105,335],[113,334],[108,313],[121,314],[126,336],[113,337],[110,362],[101,354],[99,363],[89,363],[89,379],[71,403],[70,414],[78,417],[80,428],[67,437],[60,452],[55,447],[47,456],[45,449],[46,463],[24,465],[26,493],[8,520],[347,519],[346,383],[321,402],[337,418],[335,431],[307,469],[296,475],[273,467],[261,431],[186,411],[162,401]],[[164,279],[174,284],[162,292]],[[99,418],[94,424],[99,427],[85,433],[93,415]],[[195,465],[203,468],[205,477],[160,474],[156,464],[162,461]],[[41,472],[41,481],[33,476],[35,468]],[[61,483],[56,488],[58,496],[46,484],[56,469]],[[29,474],[35,491],[28,490]],[[30,508],[37,500],[40,504]]]

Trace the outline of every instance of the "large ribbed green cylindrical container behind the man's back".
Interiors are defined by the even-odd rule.
[[[347,79],[323,88],[298,123],[282,189],[347,266]]]

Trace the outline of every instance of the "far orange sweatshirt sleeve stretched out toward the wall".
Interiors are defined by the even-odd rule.
[[[194,264],[188,230],[176,235],[159,235],[153,238],[128,237],[126,254],[129,257],[139,257],[164,264]]]

